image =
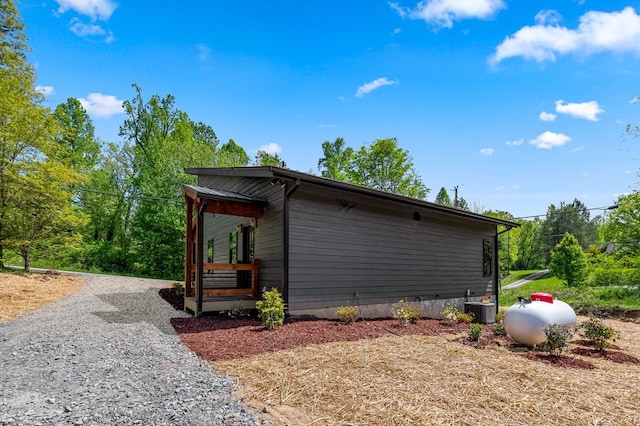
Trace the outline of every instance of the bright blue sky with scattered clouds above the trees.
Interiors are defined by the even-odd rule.
[[[118,142],[132,83],[252,155],[396,137],[432,189],[516,217],[636,188],[638,1],[22,0],[38,86]],[[594,214],[600,213],[598,210]]]

